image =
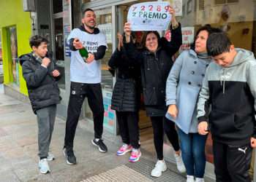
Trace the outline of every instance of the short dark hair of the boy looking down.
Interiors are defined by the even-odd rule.
[[[206,43],[208,55],[217,56],[224,52],[229,52],[231,44],[226,33],[211,33]]]

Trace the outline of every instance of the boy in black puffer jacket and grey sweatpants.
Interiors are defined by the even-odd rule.
[[[56,79],[60,73],[55,63],[45,57],[48,52],[48,40],[42,36],[32,36],[29,41],[33,52],[20,56],[23,77],[29,90],[29,99],[34,114],[37,114],[39,170],[50,172],[48,161],[54,159],[49,154],[50,140],[56,118],[56,104],[60,102],[59,87]]]

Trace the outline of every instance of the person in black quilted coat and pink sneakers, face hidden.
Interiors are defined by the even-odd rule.
[[[140,67],[129,66],[129,59],[123,47],[123,36],[120,34],[118,34],[118,48],[111,56],[108,66],[117,70],[111,108],[116,111],[120,135],[124,143],[116,154],[121,156],[132,151],[129,162],[137,162],[141,156],[138,126]]]

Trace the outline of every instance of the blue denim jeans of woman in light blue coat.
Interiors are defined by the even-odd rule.
[[[178,128],[178,138],[181,143],[181,155],[187,175],[203,178],[206,168],[205,146],[207,135],[186,134]]]

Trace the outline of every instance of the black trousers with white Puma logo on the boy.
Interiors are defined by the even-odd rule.
[[[230,146],[214,141],[214,168],[217,182],[250,182],[249,166],[252,159],[250,144]]]

